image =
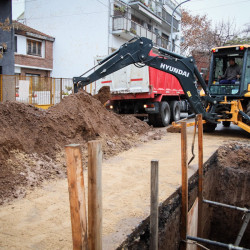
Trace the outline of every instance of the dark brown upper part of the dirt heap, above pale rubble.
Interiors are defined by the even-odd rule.
[[[142,133],[149,126],[134,117],[120,117],[85,92],[70,95],[48,111],[18,102],[0,104],[0,160],[10,150],[55,156],[68,143]]]

